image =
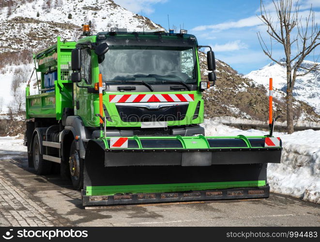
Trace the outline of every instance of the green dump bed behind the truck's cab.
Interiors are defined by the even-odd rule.
[[[30,87],[26,88],[27,119],[61,120],[63,108],[72,108],[71,50],[75,47],[76,42],[61,41],[58,36],[55,45],[33,55],[41,86],[36,95],[30,95]]]

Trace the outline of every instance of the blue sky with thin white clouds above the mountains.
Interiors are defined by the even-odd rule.
[[[256,16],[260,0],[115,0],[126,9],[145,15],[153,22],[168,29],[181,27],[195,34],[200,45],[211,45],[215,57],[227,62],[239,73],[247,74],[269,62],[259,45],[257,32],[268,39],[265,27]],[[320,23],[320,0],[300,0],[302,14],[306,14],[311,3],[315,18]],[[265,0],[267,8],[271,1]],[[272,9],[272,8],[271,8]],[[270,42],[270,40],[269,40]],[[320,47],[315,54],[320,53]],[[294,51],[293,51],[294,52]],[[276,60],[283,57],[283,47],[273,45]],[[309,60],[318,56],[310,56]],[[319,61],[319,60],[318,60]]]

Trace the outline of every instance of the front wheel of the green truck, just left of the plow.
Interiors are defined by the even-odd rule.
[[[83,161],[76,149],[76,140],[72,141],[69,156],[71,181],[75,190],[83,188]]]

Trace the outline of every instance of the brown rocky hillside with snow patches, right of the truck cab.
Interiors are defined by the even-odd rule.
[[[206,55],[200,53],[202,79],[207,79]],[[227,63],[217,60],[216,86],[204,93],[205,115],[233,116],[259,121],[268,120],[269,99],[267,89],[252,79],[238,75]],[[286,105],[283,99],[274,98],[274,115],[286,120]],[[320,115],[305,102],[294,101],[294,119],[320,121]]]

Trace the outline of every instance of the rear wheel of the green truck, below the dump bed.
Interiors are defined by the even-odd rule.
[[[40,144],[38,134],[34,136],[33,145],[32,145],[32,160],[35,173],[37,175],[46,175],[50,174],[52,163],[50,161],[45,161],[42,159],[40,154]]]

